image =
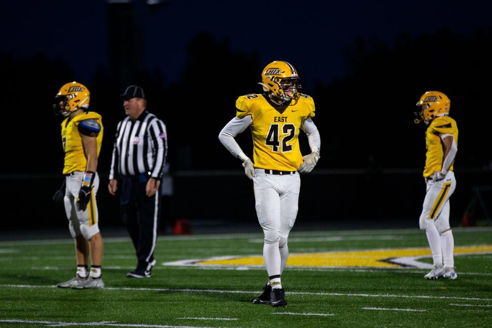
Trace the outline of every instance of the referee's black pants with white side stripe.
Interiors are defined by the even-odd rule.
[[[121,218],[135,247],[137,271],[144,271],[154,260],[157,224],[160,215],[159,192],[147,197],[145,174],[121,177]]]

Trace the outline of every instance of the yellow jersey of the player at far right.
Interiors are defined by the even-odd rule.
[[[458,147],[458,126],[456,121],[449,116],[438,116],[430,122],[425,132],[425,154],[424,177],[429,177],[436,171],[441,171],[444,160],[444,152],[441,144],[441,134],[452,134],[455,138],[455,145]],[[453,171],[453,164],[449,167]]]

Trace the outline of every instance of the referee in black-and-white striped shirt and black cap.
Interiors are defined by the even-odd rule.
[[[121,219],[137,255],[127,277],[150,278],[160,213],[159,185],[166,162],[166,126],[147,111],[144,90],[129,86],[123,98],[127,117],[118,123],[108,190],[121,188]],[[118,182],[119,180],[119,182]]]

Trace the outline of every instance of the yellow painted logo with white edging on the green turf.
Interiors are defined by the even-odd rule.
[[[492,254],[492,245],[455,247],[455,256]],[[420,268],[430,269],[432,264],[418,261],[430,258],[428,248],[362,250],[349,252],[299,253],[289,255],[289,267],[364,267],[364,268]],[[200,260],[183,260],[163,265],[203,265],[227,267],[263,267],[262,256],[222,256]]]

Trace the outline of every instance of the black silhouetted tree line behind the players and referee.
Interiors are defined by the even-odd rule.
[[[135,84],[146,91],[148,109],[167,124],[174,170],[239,169],[239,161],[220,145],[217,135],[234,117],[239,95],[262,92],[256,83],[267,63],[253,51],[232,51],[228,40],[206,33],[197,34],[187,52],[188,62],[176,83],[165,86],[162,72],[154,70],[138,72]],[[317,107],[319,166],[421,167],[425,127],[413,123],[413,112],[420,95],[433,89],[452,100],[451,115],[460,130],[458,167],[488,165],[491,57],[490,29],[471,35],[402,34],[391,46],[354,40],[345,52],[348,73],[334,81],[314,77],[316,85],[304,90]],[[293,64],[302,77],[302,63]],[[4,133],[4,173],[61,172],[61,118],[55,118],[50,107],[58,88],[76,79],[73,68],[63,58],[0,53],[0,69],[4,131],[14,129]],[[124,90],[111,75],[99,68],[91,80],[79,80],[91,91],[91,109],[103,115],[100,172],[109,170],[116,123],[124,117],[118,97]],[[238,140],[252,155],[249,133]],[[304,141],[301,149],[307,152]]]

